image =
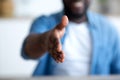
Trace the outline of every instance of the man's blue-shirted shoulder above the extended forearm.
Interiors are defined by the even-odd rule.
[[[59,23],[60,18],[61,18],[60,12],[49,16],[46,15],[39,16],[33,21],[32,26],[30,28],[30,32],[33,33],[46,32],[55,27]]]

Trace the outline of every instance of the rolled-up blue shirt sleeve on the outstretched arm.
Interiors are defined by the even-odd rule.
[[[32,26],[30,28],[30,33],[38,33],[38,34],[44,33],[49,30],[49,25],[50,23],[47,17],[41,16],[37,18],[36,20],[34,20],[34,22],[32,23]],[[26,39],[24,40],[23,45],[22,45],[21,56],[24,59],[30,59],[30,57],[28,57],[26,52],[24,51],[25,44],[26,44]]]

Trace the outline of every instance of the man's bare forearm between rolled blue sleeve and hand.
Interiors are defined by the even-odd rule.
[[[25,53],[32,59],[41,57],[47,51],[47,37],[49,32],[43,34],[30,34],[26,39]]]

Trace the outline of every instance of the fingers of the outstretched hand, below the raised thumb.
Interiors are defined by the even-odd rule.
[[[62,45],[60,40],[57,37],[51,37],[48,46],[48,52],[53,57],[53,59],[57,62],[63,62],[64,54],[62,52]]]

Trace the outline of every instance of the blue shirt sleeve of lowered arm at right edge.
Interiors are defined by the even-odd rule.
[[[120,74],[120,36],[117,31],[115,31],[115,33],[111,74]]]

